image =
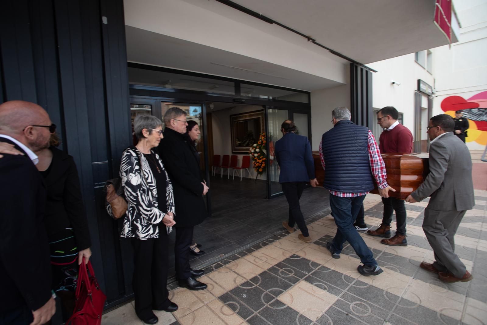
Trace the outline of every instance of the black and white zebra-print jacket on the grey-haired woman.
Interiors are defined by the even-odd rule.
[[[175,215],[174,195],[169,175],[159,155],[154,154],[166,174],[166,211],[171,211]],[[157,186],[149,162],[135,147],[129,147],[123,152],[120,177],[128,205],[120,236],[140,239],[158,237],[157,224],[162,221],[166,213],[158,208]]]

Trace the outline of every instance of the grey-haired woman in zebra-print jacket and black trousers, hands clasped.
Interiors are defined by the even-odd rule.
[[[168,173],[159,155],[151,150],[163,137],[161,120],[139,115],[133,124],[138,143],[124,151],[120,165],[128,203],[121,237],[130,238],[134,250],[135,312],[144,323],[156,324],[159,320],[152,310],[178,309],[169,300],[166,287],[174,197]]]

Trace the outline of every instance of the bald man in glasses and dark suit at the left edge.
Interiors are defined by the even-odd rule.
[[[48,148],[51,119],[25,101],[0,105],[0,141],[23,155],[0,159],[0,324],[40,325],[56,311],[43,223],[46,192],[34,151]]]

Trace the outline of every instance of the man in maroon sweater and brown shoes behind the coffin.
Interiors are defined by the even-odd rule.
[[[412,153],[412,133],[397,118],[399,113],[392,106],[386,106],[377,112],[377,123],[384,129],[379,137],[380,153]],[[406,207],[404,200],[395,197],[383,197],[384,214],[382,224],[375,230],[367,231],[372,236],[391,237],[391,221],[393,211],[396,214],[397,231],[390,239],[383,239],[382,244],[391,246],[407,246],[406,241]]]

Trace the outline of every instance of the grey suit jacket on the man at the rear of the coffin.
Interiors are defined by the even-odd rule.
[[[422,201],[431,195],[428,208],[440,211],[470,210],[475,205],[472,158],[465,143],[453,133],[430,146],[430,173],[411,196]]]

